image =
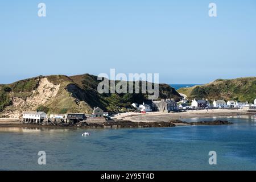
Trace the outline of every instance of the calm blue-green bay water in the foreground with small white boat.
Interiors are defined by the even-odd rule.
[[[1,128],[0,169],[256,170],[256,119],[220,119],[234,124],[149,129]],[[82,137],[85,131],[91,135]],[[38,164],[38,151],[46,152],[46,165]],[[217,152],[217,165],[209,165],[209,151]]]

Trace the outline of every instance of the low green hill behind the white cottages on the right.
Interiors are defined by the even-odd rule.
[[[180,88],[179,93],[188,98],[208,98],[253,102],[256,98],[256,77],[236,78],[232,80],[218,79],[209,84],[191,88]]]

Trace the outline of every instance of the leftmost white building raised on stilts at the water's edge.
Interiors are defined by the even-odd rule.
[[[42,122],[44,119],[47,118],[47,114],[44,112],[39,111],[26,111],[23,113],[23,121],[24,122],[35,122],[39,123]]]

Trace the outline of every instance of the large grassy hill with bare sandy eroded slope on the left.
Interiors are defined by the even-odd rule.
[[[142,102],[147,94],[100,94],[97,76],[39,76],[0,85],[0,117],[18,118],[23,111],[42,110],[52,113],[91,113],[94,106],[105,111],[127,111],[133,102]],[[118,81],[117,81],[118,82]],[[116,84],[117,84],[116,82]],[[180,100],[169,85],[159,85],[159,99]]]

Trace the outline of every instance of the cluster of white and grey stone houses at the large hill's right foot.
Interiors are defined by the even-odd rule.
[[[141,111],[141,113],[151,112],[151,111],[160,111],[167,112],[177,110],[177,102],[172,99],[162,99],[160,101],[144,101],[142,104],[133,103],[132,104],[135,109]]]

